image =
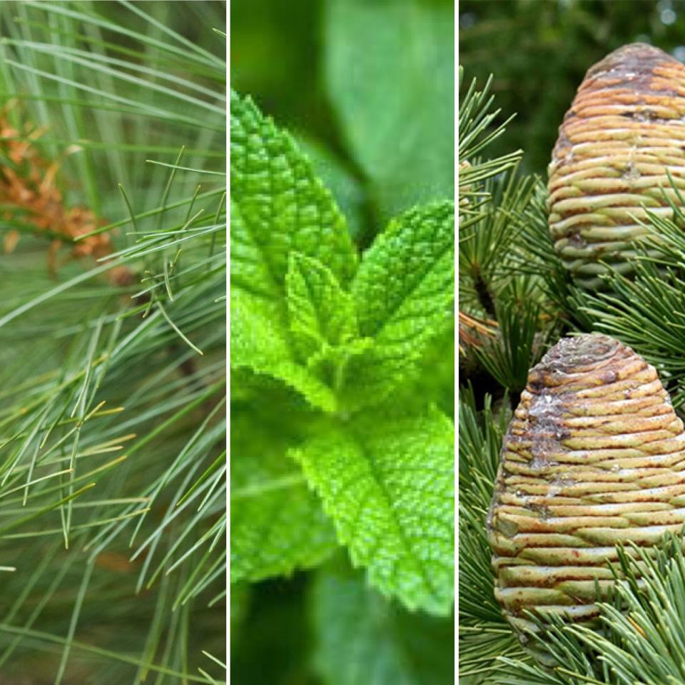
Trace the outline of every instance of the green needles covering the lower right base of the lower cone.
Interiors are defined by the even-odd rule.
[[[601,633],[555,621],[532,636],[564,668],[542,669],[502,659],[503,684],[573,685],[578,681],[619,685],[674,685],[685,677],[685,557],[683,541],[670,534],[658,548],[619,547],[612,569],[612,602],[600,602]]]

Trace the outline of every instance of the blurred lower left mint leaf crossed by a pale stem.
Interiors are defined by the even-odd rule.
[[[302,471],[288,459],[288,435],[238,417],[231,431],[230,582],[257,581],[320,563],[335,532]]]

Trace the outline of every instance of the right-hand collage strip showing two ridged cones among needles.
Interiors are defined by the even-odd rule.
[[[460,683],[685,682],[685,3],[458,15]]]

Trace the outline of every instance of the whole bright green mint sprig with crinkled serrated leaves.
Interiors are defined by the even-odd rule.
[[[290,388],[311,418],[285,447],[238,457],[257,485],[232,482],[235,580],[322,559],[325,512],[380,592],[449,614],[454,428],[429,402],[402,403],[453,325],[454,207],[391,220],[357,267],[345,218],[293,138],[235,93],[231,126],[231,366]]]

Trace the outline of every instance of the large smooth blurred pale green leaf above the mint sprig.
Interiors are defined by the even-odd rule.
[[[454,6],[326,3],[326,82],[383,218],[455,194]]]

